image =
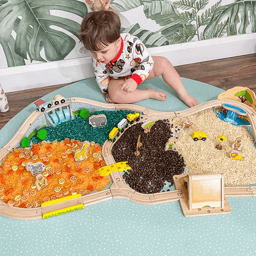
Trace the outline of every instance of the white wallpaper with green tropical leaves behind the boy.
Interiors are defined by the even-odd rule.
[[[93,0],[91,0],[93,1]],[[111,0],[147,47],[256,33],[256,0]],[[0,0],[0,68],[83,57],[84,0]]]

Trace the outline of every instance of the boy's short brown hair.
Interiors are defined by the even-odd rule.
[[[108,10],[88,13],[81,25],[78,35],[84,47],[97,52],[114,43],[121,34],[119,15]]]

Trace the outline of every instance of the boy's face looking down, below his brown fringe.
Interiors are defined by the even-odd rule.
[[[92,57],[102,63],[109,63],[111,60],[114,60],[121,48],[121,37],[117,39],[114,43],[109,44],[100,51],[92,52]]]

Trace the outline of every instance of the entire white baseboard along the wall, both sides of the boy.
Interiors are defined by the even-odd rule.
[[[256,53],[256,33],[150,48],[173,66]],[[91,57],[1,68],[5,92],[76,82],[93,77]]]

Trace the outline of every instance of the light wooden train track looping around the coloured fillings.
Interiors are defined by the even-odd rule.
[[[205,109],[209,109],[212,107],[222,106],[223,103],[227,103],[230,105],[237,106],[246,111],[247,116],[249,117],[254,138],[256,138],[256,111],[245,105],[244,103],[230,100],[230,99],[221,99],[221,100],[212,100],[209,102],[205,102],[196,107],[183,110],[183,111],[175,111],[175,112],[161,112],[156,110],[151,110],[145,107],[130,105],[130,104],[114,104],[114,103],[100,103],[93,100],[87,100],[84,98],[71,98],[71,102],[73,103],[85,103],[93,106],[106,108],[106,109],[115,109],[115,110],[131,110],[131,111],[139,111],[143,115],[141,116],[141,120],[139,122],[146,121],[157,121],[159,119],[167,119],[167,118],[175,118],[175,117],[186,117],[189,115],[193,115],[198,113],[199,111],[203,111]],[[63,104],[62,106],[66,106],[68,104]],[[58,108],[56,106],[55,108]],[[29,126],[39,118],[42,112],[34,111],[30,116],[26,118],[26,120],[19,127],[18,131],[13,135],[11,140],[0,149],[0,159],[2,159],[5,155],[9,153],[26,134]],[[118,140],[118,138],[117,138]],[[111,148],[114,143],[106,141],[102,146],[102,156],[105,159],[106,163],[114,164],[115,160],[111,155]],[[113,184],[109,189],[93,193],[90,195],[82,196],[80,198],[74,198],[70,200],[68,203],[56,203],[43,207],[36,207],[32,209],[21,209],[19,207],[10,207],[6,203],[0,201],[0,214],[4,217],[13,218],[13,219],[40,219],[42,218],[43,213],[51,212],[53,210],[59,210],[66,207],[66,205],[76,205],[76,204],[84,204],[91,205],[95,203],[99,203],[102,201],[106,201],[112,198],[125,198],[129,199],[132,202],[139,204],[158,204],[158,203],[166,203],[171,201],[179,201],[183,198],[181,190],[173,190],[167,191],[164,193],[156,193],[156,194],[142,194],[138,193],[134,189],[130,188],[126,185],[125,181],[120,172],[112,172],[110,173],[111,179],[113,180]],[[225,187],[225,196],[226,197],[237,197],[237,196],[254,196],[256,194],[256,187],[247,186],[247,187]]]

